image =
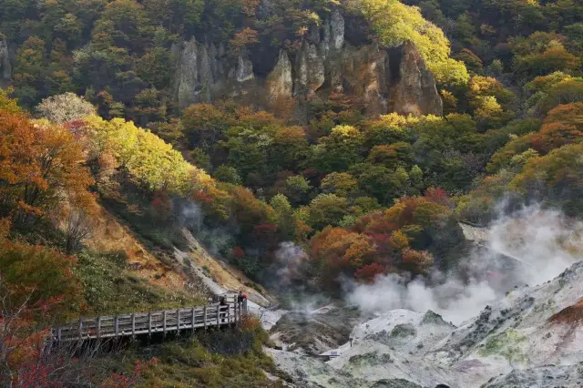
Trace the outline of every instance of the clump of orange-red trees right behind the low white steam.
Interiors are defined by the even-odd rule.
[[[322,230],[312,239],[321,280],[334,287],[341,275],[366,283],[390,271],[428,273],[434,259],[424,248],[451,219],[448,202],[443,190],[431,189],[425,197],[400,199],[390,209],[365,215],[348,230]]]

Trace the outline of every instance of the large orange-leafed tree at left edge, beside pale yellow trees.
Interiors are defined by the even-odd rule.
[[[63,203],[91,211],[81,144],[65,128],[0,109],[0,211],[24,223]]]

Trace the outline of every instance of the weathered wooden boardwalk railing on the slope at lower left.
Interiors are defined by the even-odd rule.
[[[51,330],[54,342],[118,339],[138,335],[194,331],[210,327],[239,324],[247,311],[247,302],[230,301],[227,305],[210,305],[190,309],[148,311],[97,318],[81,318],[77,322]]]

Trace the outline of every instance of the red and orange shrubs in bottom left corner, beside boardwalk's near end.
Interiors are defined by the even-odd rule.
[[[95,367],[91,357],[97,347],[83,351],[77,344],[72,348],[49,349],[50,332],[40,329],[38,322],[52,316],[63,298],[34,301],[36,290],[0,284],[0,386],[18,388],[71,386],[69,382],[93,383],[103,388],[130,388],[141,382],[142,373],[156,359],[138,361],[125,374],[110,374]],[[22,300],[23,293],[27,297]],[[21,301],[15,304],[14,301]],[[81,352],[80,358],[74,356]],[[97,384],[97,385],[96,385]]]

